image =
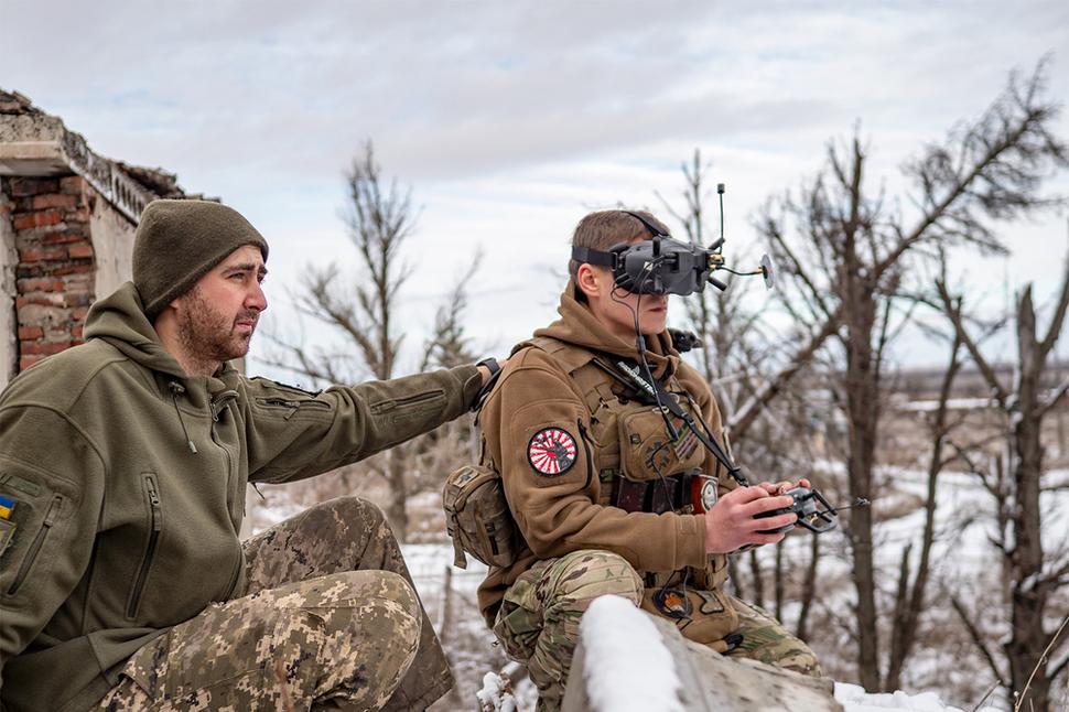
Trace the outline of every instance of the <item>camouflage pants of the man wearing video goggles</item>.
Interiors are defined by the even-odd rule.
[[[527,662],[539,691],[538,712],[555,712],[579,640],[579,622],[597,596],[615,594],[636,606],[643,579],[623,558],[608,551],[575,551],[539,561],[514,583],[497,612],[494,633],[506,652]],[[820,677],[817,656],[764,609],[732,598],[738,612],[742,644],[728,657]]]

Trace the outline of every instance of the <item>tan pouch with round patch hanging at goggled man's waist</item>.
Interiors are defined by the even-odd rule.
[[[646,589],[641,608],[673,623],[688,640],[717,649],[726,649],[721,641],[738,628],[738,613],[719,589]]]

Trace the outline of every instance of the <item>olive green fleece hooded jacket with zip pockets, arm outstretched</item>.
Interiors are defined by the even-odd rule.
[[[0,395],[0,702],[86,710],[138,648],[245,590],[247,482],[310,477],[456,418],[474,366],[310,393],[191,378],[128,283]],[[0,539],[2,541],[2,539]]]

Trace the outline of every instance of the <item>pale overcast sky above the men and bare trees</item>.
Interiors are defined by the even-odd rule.
[[[726,252],[749,217],[820,168],[854,126],[873,185],[1013,68],[1047,52],[1069,98],[1069,3],[213,2],[0,0],[0,87],[61,116],[104,155],[219,196],[271,242],[269,298],[302,267],[355,265],[343,173],[372,139],[411,185],[408,354],[478,246],[468,328],[504,350],[554,315],[568,239],[587,211],[659,207],[695,148],[727,184]],[[1059,133],[1069,138],[1069,117]],[[1049,192],[1069,193],[1057,176]],[[712,206],[710,206],[712,207]],[[960,258],[987,303],[1057,287],[1065,214],[1008,226],[1008,260]],[[762,296],[760,299],[766,299]],[[253,355],[256,355],[256,349]],[[1069,354],[1069,348],[1062,348]],[[941,362],[937,350],[903,359]]]

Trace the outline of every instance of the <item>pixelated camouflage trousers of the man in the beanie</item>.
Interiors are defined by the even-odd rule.
[[[100,709],[423,710],[452,687],[375,505],[333,499],[244,548],[241,597],[138,650]]]

